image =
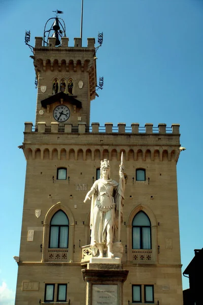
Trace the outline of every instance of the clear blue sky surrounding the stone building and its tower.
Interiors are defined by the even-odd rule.
[[[60,4],[60,5],[58,5]],[[26,161],[25,121],[35,121],[37,89],[25,29],[43,36],[52,11],[64,11],[66,36],[80,36],[81,0],[1,0],[1,266],[0,304],[13,305],[17,279]],[[104,89],[91,104],[91,122],[181,125],[178,197],[183,268],[203,247],[202,0],[84,0],[83,46],[104,32],[97,78]],[[183,278],[183,289],[189,287]]]

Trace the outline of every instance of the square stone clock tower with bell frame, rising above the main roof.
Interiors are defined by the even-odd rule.
[[[48,21],[54,22],[47,30]],[[74,39],[69,46],[62,19],[50,18],[44,38],[36,37],[33,64],[38,80],[36,127],[58,124],[59,130],[78,130],[78,124],[89,126],[90,101],[95,98],[96,57],[94,38]],[[46,41],[46,35],[51,35]],[[60,37],[61,36],[61,37]]]

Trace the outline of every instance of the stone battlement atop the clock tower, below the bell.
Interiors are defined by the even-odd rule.
[[[95,39],[94,38],[87,38],[87,47],[82,47],[82,39],[81,38],[74,38],[74,46],[69,47],[69,38],[68,37],[62,37],[61,38],[61,46],[55,47],[56,38],[55,37],[48,37],[48,46],[42,46],[43,38],[42,37],[36,37],[35,38],[35,48],[56,48],[57,50],[63,49],[63,48],[81,48],[81,49],[94,49]]]

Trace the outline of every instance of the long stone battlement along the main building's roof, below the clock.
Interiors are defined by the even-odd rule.
[[[139,123],[132,123],[130,127],[126,127],[125,123],[118,123],[113,126],[113,123],[105,123],[105,126],[99,126],[99,123],[92,123],[91,126],[86,126],[85,123],[79,123],[78,126],[72,124],[64,124],[59,126],[59,123],[52,122],[51,126],[46,126],[45,122],[39,122],[37,126],[33,126],[31,122],[25,122],[25,132],[39,133],[106,133],[106,134],[159,134],[159,135],[179,135],[179,124],[172,124],[171,127],[166,127],[166,124],[160,123],[158,127],[153,127],[153,124],[146,123],[145,127],[140,127]]]

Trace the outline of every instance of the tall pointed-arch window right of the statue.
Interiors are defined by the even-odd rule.
[[[152,249],[151,222],[143,211],[132,221],[132,249]]]

